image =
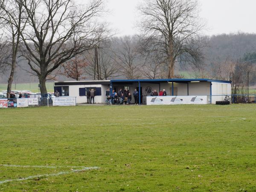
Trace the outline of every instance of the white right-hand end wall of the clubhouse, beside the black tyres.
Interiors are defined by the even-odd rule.
[[[212,104],[216,104],[216,101],[223,101],[225,95],[231,95],[231,84],[212,82]]]

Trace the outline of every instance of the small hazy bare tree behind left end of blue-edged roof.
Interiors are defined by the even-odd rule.
[[[127,79],[139,79],[145,60],[140,52],[140,39],[125,36],[119,38],[114,54],[114,60],[120,66],[120,73]]]

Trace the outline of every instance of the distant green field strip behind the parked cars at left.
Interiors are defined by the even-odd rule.
[[[47,82],[46,87],[48,92],[54,92],[54,82]],[[0,84],[0,91],[1,90],[7,90],[7,84]],[[18,83],[16,84],[16,88],[15,84],[13,83],[12,90],[31,90],[33,93],[37,93],[38,83]]]

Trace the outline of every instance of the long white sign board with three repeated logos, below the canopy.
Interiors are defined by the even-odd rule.
[[[207,96],[147,96],[147,105],[207,104]]]

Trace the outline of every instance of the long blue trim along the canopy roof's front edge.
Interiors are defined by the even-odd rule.
[[[189,81],[207,81],[207,82],[216,82],[216,83],[229,83],[231,81],[222,81],[215,79],[113,79],[111,82],[158,82],[158,81],[166,81],[166,82],[189,82]]]

